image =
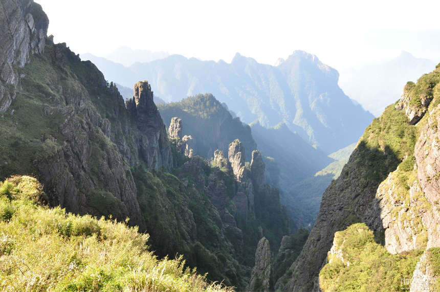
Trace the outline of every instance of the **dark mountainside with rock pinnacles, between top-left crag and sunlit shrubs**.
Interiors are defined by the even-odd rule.
[[[29,3],[39,8],[11,3],[13,15]],[[263,181],[259,152],[246,160],[234,137],[226,142],[230,160],[220,152],[212,163],[186,158],[170,143],[148,82],[137,82],[124,102],[93,63],[45,41],[23,68],[12,64],[20,86],[0,116],[0,177],[34,174],[50,206],[138,226],[160,258],[183,255],[207,279],[244,289],[258,240],[266,236],[275,252],[290,233],[278,190]],[[231,122],[251,137],[239,119]]]

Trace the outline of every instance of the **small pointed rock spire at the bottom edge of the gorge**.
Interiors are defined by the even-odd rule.
[[[272,291],[271,250],[269,241],[263,237],[258,242],[255,252],[255,266],[246,291]]]

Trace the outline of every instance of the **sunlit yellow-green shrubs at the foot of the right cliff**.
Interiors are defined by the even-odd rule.
[[[328,254],[319,283],[323,291],[405,291],[403,279],[411,279],[423,251],[392,255],[377,244],[365,223],[335,233],[334,248],[340,256]],[[341,260],[343,258],[343,261]]]

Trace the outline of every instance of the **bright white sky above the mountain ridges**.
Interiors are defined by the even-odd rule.
[[[440,1],[35,0],[49,34],[75,53],[120,46],[230,62],[274,64],[294,50],[340,70],[402,50],[440,61]]]

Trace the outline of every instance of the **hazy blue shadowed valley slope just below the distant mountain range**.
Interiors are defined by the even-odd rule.
[[[305,142],[284,123],[265,128],[256,121],[250,126],[258,149],[263,155],[268,156],[267,160],[274,159],[276,162],[278,173],[268,173],[271,178],[277,177],[277,181],[273,183],[280,189],[281,203],[287,206],[291,229],[297,230],[313,224],[319,211],[322,193],[331,179],[323,183],[322,179],[319,179],[319,183],[315,180],[314,185],[307,188],[306,196],[302,196],[298,184],[315,177],[316,172],[334,160],[319,148],[315,149]],[[320,188],[316,188],[317,186]]]

